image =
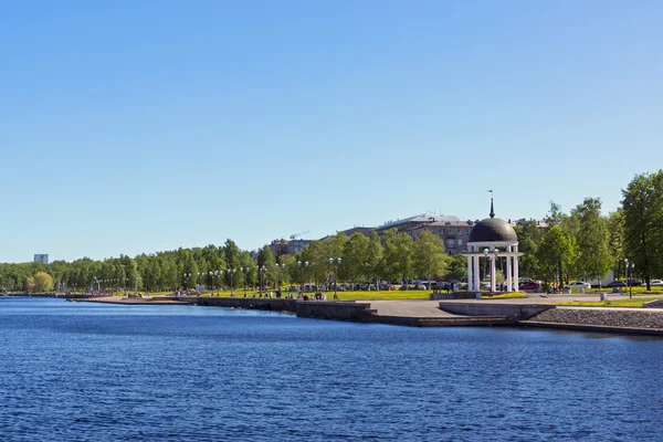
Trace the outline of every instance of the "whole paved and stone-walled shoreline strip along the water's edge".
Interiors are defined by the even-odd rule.
[[[663,308],[568,307],[532,299],[464,301],[301,301],[287,298],[176,297],[126,298],[107,296],[67,299],[116,305],[198,305],[264,309],[298,317],[387,324],[409,327],[518,327],[663,337]],[[450,313],[462,307],[464,314]],[[534,308],[534,309],[533,309]],[[515,312],[515,313],[514,313]],[[648,325],[642,327],[643,324]]]

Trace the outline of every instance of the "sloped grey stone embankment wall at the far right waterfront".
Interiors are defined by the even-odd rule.
[[[655,328],[663,330],[663,313],[643,309],[552,308],[530,319],[536,323],[587,326]]]

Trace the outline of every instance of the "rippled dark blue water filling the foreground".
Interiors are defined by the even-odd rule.
[[[0,298],[2,441],[663,441],[663,340]]]

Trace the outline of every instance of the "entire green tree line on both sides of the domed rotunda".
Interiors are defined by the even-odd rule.
[[[663,276],[663,170],[642,173],[622,190],[622,204],[604,215],[599,198],[586,198],[565,213],[551,202],[547,227],[516,227],[520,275],[560,284],[573,278],[642,277],[650,287]],[[338,261],[340,259],[340,262]],[[329,262],[332,260],[332,262]],[[278,264],[278,265],[277,265]],[[396,229],[369,236],[343,233],[307,245],[296,256],[274,256],[265,245],[253,255],[232,240],[223,245],[120,255],[104,261],[0,264],[3,291],[118,288],[138,291],[193,287],[273,286],[329,282],[464,280],[465,259],[449,255],[439,236],[423,231],[413,240]]]

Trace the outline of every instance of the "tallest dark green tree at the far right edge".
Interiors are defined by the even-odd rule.
[[[622,196],[624,254],[649,291],[652,275],[663,273],[663,170],[635,176]]]

